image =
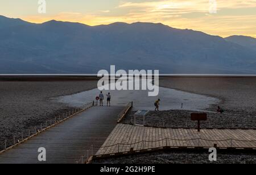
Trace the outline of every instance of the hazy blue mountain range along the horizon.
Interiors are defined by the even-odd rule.
[[[0,73],[256,73],[256,39],[221,38],[155,23],[86,26],[0,16]]]

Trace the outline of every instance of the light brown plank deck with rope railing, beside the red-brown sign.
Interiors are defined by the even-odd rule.
[[[115,153],[140,151],[146,149],[170,148],[256,148],[256,130],[218,130],[172,129],[141,127],[118,124],[96,153],[112,155]]]

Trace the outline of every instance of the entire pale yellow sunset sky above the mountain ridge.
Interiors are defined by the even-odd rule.
[[[222,37],[246,35],[256,38],[256,0],[44,1],[46,13],[40,14],[39,0],[0,0],[0,15],[34,23],[55,19],[90,26],[152,22]]]

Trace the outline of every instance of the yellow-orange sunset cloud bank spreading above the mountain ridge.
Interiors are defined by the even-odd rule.
[[[98,10],[86,14],[61,12],[49,16],[25,16],[31,22],[56,19],[80,22],[96,26],[114,22],[153,22],[175,28],[191,28],[212,35],[256,36],[256,0],[216,0],[217,14],[209,14],[209,0],[160,0],[119,3],[110,10]],[[231,9],[231,10],[230,10]],[[256,9],[255,9],[256,10]],[[247,12],[248,11],[248,12]],[[246,12],[246,13],[245,13]]]

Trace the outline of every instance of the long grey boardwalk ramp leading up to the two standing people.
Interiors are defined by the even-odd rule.
[[[46,148],[44,163],[76,163],[101,147],[117,123],[122,106],[92,107],[0,155],[0,164],[40,163],[38,148]],[[91,153],[91,152],[89,152]]]

